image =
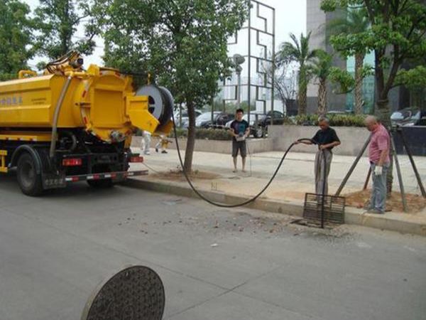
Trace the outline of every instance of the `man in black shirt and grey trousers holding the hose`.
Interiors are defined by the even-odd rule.
[[[334,146],[339,146],[340,140],[337,137],[334,129],[330,128],[329,119],[326,117],[320,117],[318,119],[318,125],[320,130],[311,139],[311,142],[302,142],[302,144],[317,144],[318,151],[315,156],[315,193],[317,194],[328,194],[328,183],[327,178],[330,172],[330,166],[332,165],[333,153],[332,149]],[[298,144],[300,142],[296,142]],[[325,157],[325,168],[324,158]],[[325,174],[324,174],[325,170]],[[325,189],[324,186],[325,177]]]

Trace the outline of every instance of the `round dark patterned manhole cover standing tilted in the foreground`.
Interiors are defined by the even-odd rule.
[[[133,266],[114,274],[88,299],[82,320],[160,320],[165,294],[153,270]]]

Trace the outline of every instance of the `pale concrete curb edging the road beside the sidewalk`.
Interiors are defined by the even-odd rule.
[[[197,194],[192,191],[190,186],[180,186],[178,183],[168,181],[167,183],[158,181],[138,180],[136,178],[128,178],[121,183],[122,186],[131,188],[141,188],[149,191],[160,193],[169,193],[176,196],[184,196],[188,198],[200,199]],[[240,203],[249,199],[248,196],[237,196],[230,193],[220,191],[202,191],[212,201],[220,203]],[[285,215],[295,215],[302,217],[303,203],[297,201],[278,201],[260,197],[253,203],[249,203],[246,208],[268,211],[271,213],[283,213]],[[376,228],[381,230],[397,231],[400,233],[411,233],[414,235],[426,236],[426,222],[420,221],[413,215],[405,217],[400,214],[386,213],[386,215],[374,215],[365,213],[364,210],[356,208],[345,208],[345,223],[348,225],[362,225],[364,227]]]

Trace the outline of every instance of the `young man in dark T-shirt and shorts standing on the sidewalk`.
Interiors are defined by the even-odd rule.
[[[230,132],[232,134],[232,158],[234,159],[234,171],[236,169],[236,157],[238,152],[240,152],[241,159],[243,162],[243,172],[246,172],[246,156],[247,156],[247,147],[246,147],[246,138],[250,134],[249,122],[243,119],[244,111],[242,109],[236,110],[235,120],[231,122]]]

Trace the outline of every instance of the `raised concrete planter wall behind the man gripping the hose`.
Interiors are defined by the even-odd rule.
[[[318,127],[311,126],[270,126],[268,127],[269,138],[273,140],[274,151],[284,151],[295,140],[301,138],[312,138]],[[333,153],[341,156],[356,156],[361,151],[362,146],[368,139],[370,133],[365,128],[360,127],[334,127],[342,144],[333,149]],[[314,153],[315,146],[294,146],[295,152]]]

